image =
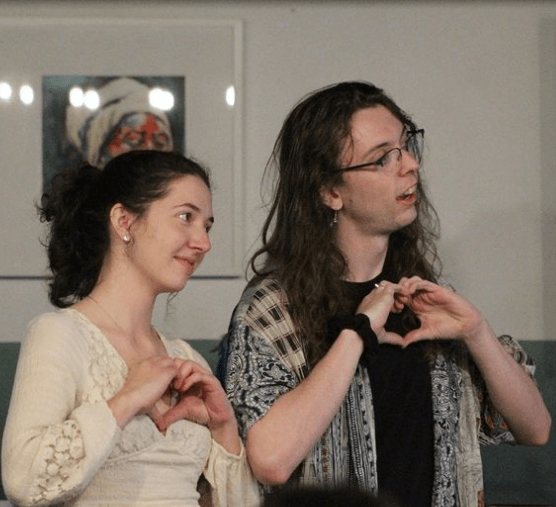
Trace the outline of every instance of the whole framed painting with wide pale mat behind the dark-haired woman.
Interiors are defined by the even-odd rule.
[[[5,18],[0,30],[0,277],[47,276],[35,206],[55,174],[134,146],[209,168],[213,250],[196,276],[240,276],[241,21]]]

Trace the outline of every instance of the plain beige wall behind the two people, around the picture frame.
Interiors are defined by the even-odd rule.
[[[4,1],[0,16],[242,20],[246,255],[264,217],[263,168],[292,105],[340,80],[382,86],[427,131],[445,275],[496,331],[554,339],[556,4]],[[0,178],[6,170],[0,159]],[[217,337],[243,285],[192,280],[170,313],[161,301],[157,320],[168,334]],[[41,280],[0,279],[0,298],[0,341],[19,340],[49,308]]]

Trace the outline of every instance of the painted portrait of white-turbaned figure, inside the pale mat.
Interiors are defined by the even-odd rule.
[[[43,76],[43,191],[67,166],[102,168],[134,149],[183,153],[184,98],[184,76]]]

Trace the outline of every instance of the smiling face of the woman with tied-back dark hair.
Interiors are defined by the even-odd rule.
[[[183,289],[211,248],[213,222],[210,190],[186,175],[132,224],[129,259],[155,294]]]

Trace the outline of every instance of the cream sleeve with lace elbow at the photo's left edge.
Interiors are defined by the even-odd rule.
[[[17,505],[78,495],[119,431],[106,402],[78,401],[87,348],[64,317],[35,321],[21,348],[2,446],[4,488]]]

